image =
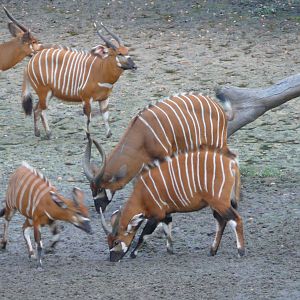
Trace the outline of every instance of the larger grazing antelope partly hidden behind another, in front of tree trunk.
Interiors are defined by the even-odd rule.
[[[224,101],[224,105],[228,107],[229,103]],[[115,191],[136,176],[143,164],[161,160],[174,152],[196,149],[199,145],[230,153],[226,132],[227,117],[218,103],[203,95],[180,94],[148,106],[133,118],[106,163],[104,151],[94,141],[103,160],[100,169],[90,164],[92,142],[89,139],[83,167],[96,210],[99,212],[101,207],[104,211]],[[172,253],[170,215],[163,225],[167,250]],[[148,221],[141,239],[152,231],[153,224]]]

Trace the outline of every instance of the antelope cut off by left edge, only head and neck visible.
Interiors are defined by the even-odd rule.
[[[41,48],[30,31],[13,18],[5,7],[3,9],[12,21],[8,23],[8,29],[14,38],[0,44],[0,71],[12,68],[26,56],[30,56]]]

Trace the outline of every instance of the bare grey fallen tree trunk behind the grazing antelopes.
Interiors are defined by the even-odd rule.
[[[223,86],[216,89],[222,102],[229,100],[233,119],[228,122],[228,136],[253,122],[266,111],[300,96],[300,74],[287,77],[267,88],[248,89]]]

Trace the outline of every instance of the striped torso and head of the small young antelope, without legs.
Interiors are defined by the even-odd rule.
[[[89,221],[84,194],[73,189],[73,199],[58,194],[56,188],[39,171],[23,163],[11,176],[6,194],[6,206],[18,209],[30,218],[47,216],[51,220],[68,221],[78,227]]]

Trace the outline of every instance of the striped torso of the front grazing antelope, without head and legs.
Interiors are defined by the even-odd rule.
[[[218,150],[201,148],[175,155],[145,170],[132,198],[135,193],[141,195],[143,205],[162,219],[165,213],[194,211],[206,205],[220,211],[220,206],[230,207],[237,169],[236,160]]]

